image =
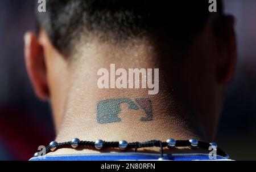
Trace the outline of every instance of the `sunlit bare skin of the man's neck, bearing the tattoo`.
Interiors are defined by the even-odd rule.
[[[56,128],[57,142],[69,141],[75,137],[88,141],[101,139],[128,142],[165,141],[170,138],[176,140],[195,138],[202,141],[208,139],[197,117],[183,108],[175,96],[175,90],[166,82],[168,77],[162,72],[163,69],[159,66],[158,58],[151,46],[143,44],[126,53],[113,53],[117,51],[111,50],[108,46],[101,45],[100,49],[98,46],[90,46],[89,53],[82,54],[84,58],[79,58],[77,55],[75,62],[72,62],[74,64],[69,66],[72,72],[69,72],[67,79],[69,84],[65,90],[67,94],[61,105],[63,117],[59,120],[61,121],[59,127]],[[149,95],[148,89],[142,88],[98,88],[97,80],[100,76],[97,76],[97,71],[100,68],[110,70],[112,63],[116,68],[126,70],[159,68],[159,93]],[[143,106],[145,104],[149,109]],[[54,111],[57,110],[54,109],[53,101]],[[117,117],[113,117],[113,111]],[[102,117],[102,114],[105,117]],[[106,117],[108,115],[112,115],[114,119]],[[93,148],[82,150],[63,148],[49,154],[101,152],[120,151],[118,149],[97,151]],[[139,149],[138,152],[159,152],[159,148]]]

